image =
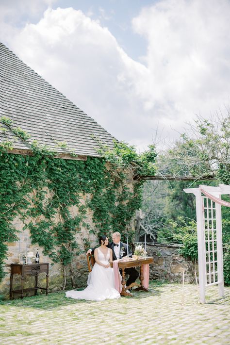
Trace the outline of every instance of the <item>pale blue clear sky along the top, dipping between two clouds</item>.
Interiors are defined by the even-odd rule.
[[[1,0],[8,8],[15,7],[16,0]],[[23,4],[26,1],[17,0]],[[31,1],[32,3],[35,1]],[[42,1],[41,1],[42,2]],[[142,8],[153,5],[158,0],[54,0],[44,1],[43,6],[35,13],[22,11],[21,16],[13,19],[13,23],[23,28],[29,21],[36,23],[39,21],[42,12],[50,3],[53,9],[58,7],[72,7],[81,10],[84,14],[90,15],[92,19],[99,20],[102,26],[108,27],[110,32],[116,37],[119,45],[133,58],[138,59],[144,55],[147,49],[147,43],[143,37],[140,37],[132,30],[132,18],[137,16]],[[11,17],[8,16],[8,20]]]

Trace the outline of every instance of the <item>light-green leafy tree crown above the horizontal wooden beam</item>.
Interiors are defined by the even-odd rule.
[[[213,122],[197,118],[190,130],[181,134],[173,148],[158,158],[158,171],[165,175],[194,176],[197,181],[213,176],[230,183],[230,111],[216,115]]]

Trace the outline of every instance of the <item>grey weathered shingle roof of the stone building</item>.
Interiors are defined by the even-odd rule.
[[[99,156],[95,150],[99,145],[93,136],[109,147],[115,139],[1,43],[0,116],[11,118],[14,127],[31,134],[30,142],[37,140],[60,153],[67,151],[57,148],[56,141],[66,141],[78,155]],[[16,140],[14,148],[30,149],[29,143],[18,139],[10,130],[7,137]],[[2,140],[6,140],[6,135],[0,134]]]

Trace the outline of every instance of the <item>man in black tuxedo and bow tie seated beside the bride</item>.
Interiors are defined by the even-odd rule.
[[[113,240],[113,242],[109,242],[108,243],[108,247],[111,248],[112,251],[113,251],[113,260],[121,259],[120,251],[121,251],[122,247],[124,247],[124,249],[123,249],[124,250],[123,256],[127,256],[128,255],[128,253],[127,253],[127,244],[121,242],[121,234],[120,234],[120,232],[113,233],[112,240]],[[89,249],[87,251],[87,254],[91,253],[91,252],[93,254],[94,253],[94,249],[95,248]],[[129,251],[129,256],[130,255],[131,255],[131,251]],[[125,272],[129,275],[129,279],[126,282],[126,286],[129,286],[131,283],[134,283],[134,281],[139,277],[139,273],[138,273],[138,271],[134,267],[125,268]]]

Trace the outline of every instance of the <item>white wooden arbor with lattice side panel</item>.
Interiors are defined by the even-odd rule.
[[[184,192],[196,196],[199,294],[205,303],[207,286],[218,285],[219,296],[224,296],[221,205],[230,207],[230,203],[221,200],[221,195],[230,194],[230,185],[200,185]]]

